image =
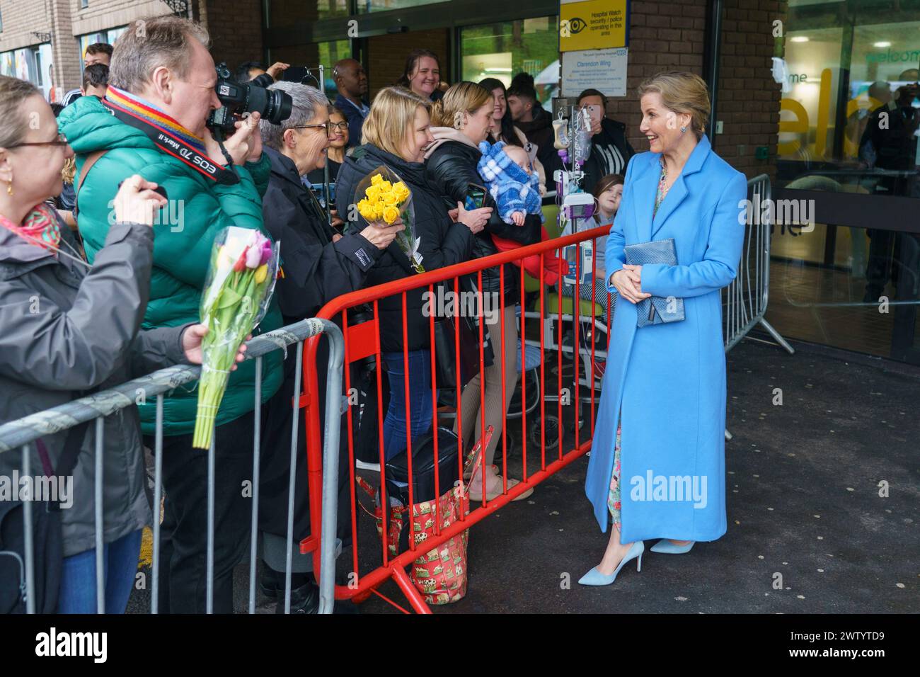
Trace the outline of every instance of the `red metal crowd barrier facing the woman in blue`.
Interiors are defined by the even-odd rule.
[[[512,262],[523,262],[528,256],[534,256],[535,254],[548,253],[552,254],[554,251],[570,244],[578,244],[578,250],[581,254],[581,243],[587,240],[592,240],[596,245],[596,240],[600,237],[606,235],[609,231],[609,226],[602,228],[594,228],[592,230],[583,231],[575,235],[569,235],[566,237],[551,239],[545,242],[540,242],[535,245],[530,245],[523,247],[522,249],[515,251],[505,251],[493,256],[489,256],[482,259],[467,261],[465,263],[458,263],[452,266],[441,268],[438,270],[429,271],[422,274],[416,274],[410,277],[406,277],[401,280],[394,282],[386,283],[384,285],[368,287],[361,289],[359,291],[352,292],[350,294],[343,295],[339,298],[335,298],[330,301],[320,312],[317,314],[317,317],[326,318],[331,321],[335,321],[342,328],[342,333],[345,337],[345,365],[344,365],[344,379],[345,379],[345,389],[343,392],[351,393],[352,392],[352,383],[351,383],[351,365],[355,362],[373,357],[376,365],[376,395],[377,395],[377,433],[379,436],[379,459],[380,459],[380,494],[381,502],[384,506],[387,505],[387,496],[386,496],[386,486],[385,486],[385,454],[384,454],[384,412],[383,406],[379,405],[383,402],[383,389],[381,383],[381,341],[380,341],[380,315],[378,309],[378,302],[382,298],[393,297],[401,295],[402,298],[402,327],[403,327],[403,341],[402,341],[402,350],[403,350],[403,359],[404,359],[404,368],[405,368],[405,386],[406,386],[406,420],[407,422],[411,420],[409,413],[409,379],[408,379],[408,326],[406,321],[406,294],[408,291],[413,289],[424,289],[427,288],[428,293],[431,295],[431,298],[434,298],[435,286],[438,283],[447,281],[450,283],[453,282],[454,294],[460,292],[460,281],[461,278],[466,275],[472,275],[477,280],[477,289],[482,289],[482,272],[487,268],[494,268],[500,266],[500,336],[499,340],[496,340],[495,336],[492,336],[491,343],[495,346],[495,359],[501,360],[503,363],[505,355],[505,338],[506,338],[506,327],[505,327],[505,270],[504,266],[500,265],[503,263],[512,263]],[[596,246],[593,248],[596,251]],[[576,267],[580,268],[581,256],[576,259]],[[540,259],[540,280],[543,279],[543,265],[544,261],[541,256]],[[563,263],[558,262],[559,265],[559,285],[561,286],[562,274],[564,271],[561,269]],[[399,589],[406,595],[409,604],[411,607],[418,613],[431,613],[428,604],[423,599],[423,595],[418,589],[413,585],[412,581],[409,579],[408,574],[405,570],[406,566],[410,566],[411,563],[420,557],[421,554],[427,553],[432,549],[440,547],[443,543],[448,542],[454,536],[462,534],[462,532],[469,529],[473,524],[476,524],[481,519],[485,519],[489,514],[495,512],[496,510],[506,506],[511,502],[516,496],[520,496],[523,492],[535,487],[537,484],[540,484],[547,477],[554,473],[558,473],[559,470],[567,466],[572,461],[579,459],[586,451],[591,448],[591,439],[590,431],[593,430],[594,426],[594,416],[595,416],[595,381],[594,381],[594,363],[595,363],[595,336],[594,331],[597,329],[605,329],[607,334],[607,340],[603,344],[604,347],[609,347],[609,336],[610,336],[610,316],[612,312],[607,312],[607,321],[604,325],[598,320],[597,316],[597,306],[591,304],[591,315],[581,315],[581,300],[580,300],[580,286],[577,284],[577,280],[581,278],[581,270],[576,271],[576,286],[574,288],[574,294],[570,297],[571,307],[575,317],[571,317],[569,313],[563,312],[563,302],[561,298],[558,298],[556,303],[558,309],[557,312],[550,316],[546,313],[546,301],[551,298],[550,295],[557,294],[559,286],[546,286],[542,283],[536,284],[535,280],[531,280],[531,287],[538,287],[531,292],[526,291],[525,281],[527,280],[528,275],[523,269],[523,265],[520,267],[520,299],[518,303],[521,304],[522,312],[520,313],[520,331],[518,336],[521,339],[521,378],[520,386],[522,389],[521,396],[521,430],[522,430],[522,449],[521,453],[523,454],[523,477],[520,484],[516,484],[509,488],[508,486],[508,447],[507,447],[507,434],[502,435],[502,444],[501,444],[501,465],[500,465],[500,474],[502,477],[502,493],[500,496],[493,498],[492,500],[487,500],[487,488],[486,488],[486,473],[480,473],[482,477],[482,500],[478,502],[477,507],[469,505],[468,499],[464,502],[463,509],[460,510],[460,517],[450,526],[442,529],[442,519],[440,514],[440,505],[436,502],[437,513],[435,515],[435,524],[434,524],[434,537],[427,538],[421,544],[415,543],[415,539],[412,537],[412,532],[409,533],[408,538],[408,550],[402,553],[397,554],[397,556],[392,556],[387,552],[387,535],[388,535],[388,519],[386,519],[386,511],[384,511],[383,519],[383,536],[381,537],[381,562],[378,566],[375,566],[370,571],[361,572],[359,568],[359,541],[358,541],[358,522],[359,519],[359,510],[353,508],[351,510],[351,572],[353,574],[350,577],[350,583],[347,586],[337,585],[335,588],[335,597],[337,600],[347,600],[351,599],[352,601],[363,601],[366,600],[371,594],[377,594],[381,597],[384,597],[380,594],[376,588],[384,583],[387,579],[392,578],[396,583]],[[603,280],[597,280],[596,277],[592,277],[592,298],[594,298],[594,288],[596,285],[603,285]],[[534,309],[527,310],[526,304],[528,302],[528,297],[534,305]],[[610,295],[607,295],[607,308],[610,309]],[[365,304],[370,304],[373,307],[373,318],[370,321],[362,321],[359,324],[350,325],[348,310],[362,306]],[[455,304],[459,306],[460,304]],[[430,313],[429,319],[429,331],[430,331],[430,347],[428,350],[431,353],[431,399],[432,399],[432,410],[433,410],[433,421],[432,429],[437,430],[438,428],[438,402],[436,394],[438,391],[437,380],[436,380],[436,369],[435,369],[435,360],[437,355],[435,354],[435,312]],[[482,308],[482,299],[480,297],[478,303],[478,329],[479,329],[479,368],[480,374],[483,374],[485,371],[484,365],[484,351],[483,351],[483,338],[484,338],[484,325],[485,321],[483,320],[483,308]],[[527,321],[530,320],[538,321],[538,338],[527,338],[526,327],[528,326]],[[546,321],[550,321],[547,324]],[[571,322],[571,327],[574,331],[574,340],[569,343],[568,346],[564,346],[563,338],[563,325],[567,322]],[[589,323],[590,321],[590,323]],[[552,333],[552,323],[555,323],[555,334]],[[581,324],[585,323],[586,327],[581,327]],[[533,324],[530,325],[533,327]],[[454,354],[456,355],[456,373],[460,373],[460,324],[459,322],[454,322]],[[591,332],[591,345],[590,351],[588,348],[581,348],[580,342],[580,333],[585,331]],[[531,332],[534,333],[533,331]],[[539,346],[539,426],[536,428],[540,431],[540,445],[539,453],[534,459],[534,453],[531,450],[531,455],[528,456],[528,439],[527,439],[527,425],[528,425],[528,416],[527,416],[527,379],[526,379],[526,348],[531,345],[534,348]],[[305,408],[305,426],[306,426],[306,456],[307,456],[307,468],[308,468],[308,491],[309,491],[309,501],[310,501],[310,521],[311,521],[311,535],[305,538],[301,542],[301,552],[302,553],[313,553],[315,574],[318,579],[320,571],[320,535],[321,529],[320,525],[322,523],[322,445],[320,438],[320,411],[319,411],[319,391],[316,379],[316,348],[318,345],[318,339],[308,339],[305,342],[305,368],[304,368],[304,392],[301,397],[300,405],[302,408]],[[569,351],[570,346],[570,351]],[[557,352],[558,355],[553,356],[553,352]],[[571,354],[571,360],[573,363],[573,371],[571,377],[565,379],[563,378],[563,353]],[[590,355],[590,358],[589,358]],[[582,360],[582,368],[585,368],[587,374],[585,379],[580,377],[580,357]],[[548,360],[553,359],[556,365],[557,378],[556,378],[556,392],[554,394],[547,394],[546,391],[546,368]],[[590,359],[590,368],[587,365],[587,361]],[[507,374],[502,368],[501,372],[501,390],[502,390],[502,401],[505,400],[505,387],[506,387]],[[457,453],[457,460],[459,464],[460,476],[463,476],[464,469],[464,445],[463,445],[463,430],[462,430],[462,420],[461,420],[461,384],[460,378],[456,378],[456,422],[457,422],[457,435],[460,439],[460,445]],[[585,383],[584,381],[587,381]],[[485,389],[486,389],[486,379],[479,379],[479,388],[480,388],[480,399],[479,406],[484,406],[485,403]],[[574,389],[574,398],[572,402],[575,404],[573,407],[574,421],[573,421],[573,430],[574,430],[574,444],[573,446],[564,451],[564,442],[563,442],[563,401],[566,399],[563,396],[565,388],[569,385],[573,386]],[[582,387],[586,388],[590,393],[585,392],[582,396]],[[570,391],[569,391],[570,392]],[[549,458],[547,458],[547,439],[546,439],[546,423],[547,423],[547,408],[546,401],[556,400],[556,415],[557,415],[557,427],[558,435],[555,439],[550,439],[550,449],[555,447],[556,458],[554,459],[554,454],[550,452]],[[590,420],[585,421],[584,423],[589,423],[588,428],[589,433],[587,436],[581,435],[580,432],[580,409],[581,403],[590,403]],[[328,403],[329,406],[334,406],[334,403]],[[353,411],[354,410],[354,411]],[[550,409],[550,413],[551,413]],[[351,503],[353,507],[357,506],[357,496],[356,496],[356,467],[355,467],[355,449],[354,449],[354,430],[357,425],[357,407],[349,406],[347,409],[347,426],[348,426],[348,453],[349,453],[349,469],[350,469],[350,483],[351,483]],[[502,431],[508,431],[508,412],[505,411],[502,414]],[[533,421],[531,421],[533,426]],[[407,439],[406,444],[408,447],[408,503],[411,506],[414,503],[412,496],[412,486],[413,486],[413,474],[411,467],[412,459],[412,439],[411,435],[408,432],[411,429],[411,426],[407,424]],[[486,421],[485,416],[481,416],[481,424],[479,430],[480,436],[479,439],[486,437]],[[583,439],[588,437],[588,439]],[[435,480],[435,496],[441,496],[445,491],[449,490],[451,487],[442,487],[439,484],[438,477],[438,436],[435,435],[433,440],[434,446],[434,480]],[[484,450],[484,449],[483,449]],[[496,449],[496,455],[498,455],[499,449]],[[536,466],[536,469],[535,469]],[[467,513],[467,509],[469,512]],[[413,528],[413,523],[411,517],[408,519],[408,529]],[[322,534],[323,537],[334,538],[334,534]],[[365,539],[366,540],[366,539]],[[362,543],[363,545],[363,543]],[[374,544],[376,546],[376,544]],[[470,582],[471,585],[475,585],[475,581]],[[384,599],[386,599],[384,597]],[[398,605],[390,600],[390,603],[398,607]],[[401,607],[398,607],[401,609]],[[405,611],[405,610],[403,610]]]

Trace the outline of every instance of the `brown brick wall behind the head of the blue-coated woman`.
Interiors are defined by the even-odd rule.
[[[627,96],[608,99],[607,116],[627,125],[629,143],[649,149],[639,132],[642,114],[636,89],[662,70],[703,72],[706,49],[706,0],[633,0],[629,18]],[[776,174],[776,130],[780,86],[771,76],[773,20],[785,20],[783,0],[725,0],[717,118],[723,133],[714,149],[748,178]],[[733,31],[743,31],[742,33]],[[768,146],[770,159],[754,158],[756,146]]]

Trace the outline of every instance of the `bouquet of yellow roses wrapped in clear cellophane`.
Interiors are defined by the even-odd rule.
[[[381,165],[365,176],[354,193],[355,206],[365,221],[385,227],[402,217],[406,228],[397,233],[399,249],[406,254],[416,273],[424,273],[419,253],[421,238],[415,232],[412,192],[397,173]]]

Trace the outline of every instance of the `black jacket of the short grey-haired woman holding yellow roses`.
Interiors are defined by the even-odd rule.
[[[284,277],[275,285],[285,324],[313,317],[328,301],[365,286],[383,252],[357,232],[332,241],[313,193],[300,181],[293,160],[272,148],[269,188],[262,216],[272,239],[281,240]]]

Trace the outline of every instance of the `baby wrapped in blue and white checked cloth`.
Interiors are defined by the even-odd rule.
[[[543,223],[540,201],[540,178],[530,164],[530,155],[521,146],[507,146],[504,141],[479,144],[482,158],[477,169],[486,182],[501,220],[523,226],[527,214],[538,214]]]

